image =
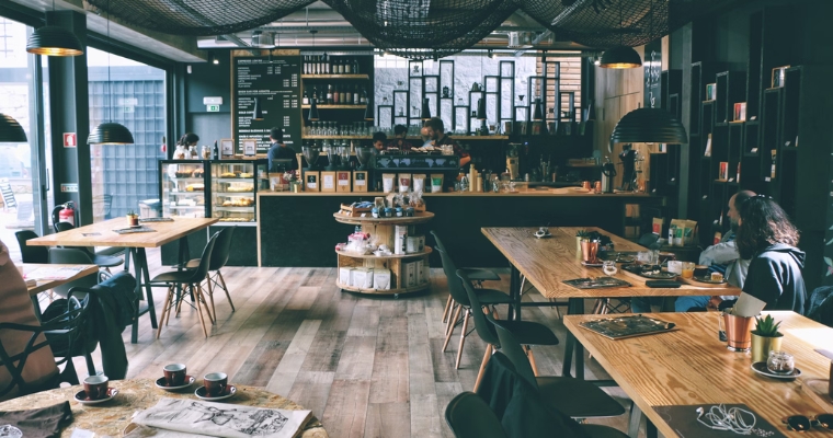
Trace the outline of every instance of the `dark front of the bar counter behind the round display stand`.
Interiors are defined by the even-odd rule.
[[[258,194],[260,266],[333,267],[335,244],[346,242],[354,227],[338,223],[342,204],[373,200],[383,193],[262,192]],[[579,187],[521,189],[514,193],[426,193],[434,219],[420,233],[434,230],[452,254],[465,254],[467,266],[505,267],[506,260],[480,229],[483,227],[600,227],[625,235],[627,205],[660,207],[663,197],[637,193],[594,194]],[[631,222],[629,222],[631,221]],[[635,221],[635,222],[634,222]],[[429,239],[426,242],[433,245]],[[431,254],[431,266],[440,256]]]

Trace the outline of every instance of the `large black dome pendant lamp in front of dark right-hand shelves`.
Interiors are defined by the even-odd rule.
[[[688,142],[688,135],[683,124],[667,111],[637,108],[616,124],[611,142],[681,145]]]

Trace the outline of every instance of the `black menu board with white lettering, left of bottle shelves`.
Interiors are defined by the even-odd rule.
[[[270,147],[269,131],[283,128],[286,146],[300,151],[300,56],[237,57],[232,71],[231,123],[236,153],[243,154],[243,140],[255,139],[258,153]],[[263,119],[254,120],[259,101]]]

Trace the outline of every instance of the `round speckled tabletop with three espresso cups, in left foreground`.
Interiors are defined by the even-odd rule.
[[[161,372],[161,369],[160,369]],[[233,382],[231,382],[233,384]],[[33,410],[38,407],[52,406],[69,401],[72,410],[72,424],[66,427],[60,436],[68,438],[76,428],[91,430],[95,436],[121,437],[124,428],[130,424],[133,414],[139,410],[146,410],[157,404],[161,397],[173,399],[192,399],[198,400],[194,395],[197,384],[191,385],[182,392],[166,392],[156,388],[152,381],[145,379],[137,380],[114,380],[110,385],[118,389],[118,394],[111,401],[98,405],[81,405],[72,400],[78,391],[83,390],[83,385],[61,388],[52,391],[38,392],[35,394],[13,399],[0,403],[0,411],[20,411]],[[272,407],[288,411],[304,410],[290,400],[281,395],[266,392],[264,390],[238,384],[237,394],[219,403],[239,404],[243,406]],[[321,422],[312,417],[299,437],[303,438],[327,438]]]

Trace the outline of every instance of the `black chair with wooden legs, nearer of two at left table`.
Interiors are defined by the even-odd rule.
[[[162,334],[162,325],[168,325],[168,321],[171,320],[171,310],[176,309],[176,313],[179,314],[182,302],[183,296],[176,291],[175,286],[181,285],[184,286],[183,290],[186,288],[191,290],[194,297],[194,303],[189,306],[196,309],[197,313],[199,313],[199,322],[203,324],[203,334],[205,334],[205,337],[208,337],[208,328],[205,326],[205,319],[203,318],[203,310],[202,304],[206,303],[205,297],[203,295],[203,286],[202,283],[205,279],[205,277],[208,275],[208,267],[212,262],[212,251],[214,251],[214,246],[217,243],[217,237],[219,233],[215,233],[212,235],[212,239],[208,240],[208,243],[206,243],[205,249],[203,250],[203,255],[199,257],[199,265],[197,265],[194,269],[185,269],[185,270],[172,270],[163,274],[159,274],[156,277],[153,277],[150,280],[151,286],[167,286],[168,287],[168,296],[164,299],[164,306],[162,306],[162,314],[159,316],[159,328],[157,330],[157,339]],[[150,299],[150,298],[148,298]],[[206,311],[208,309],[206,308]],[[212,312],[208,311],[208,318],[212,319]],[[212,320],[214,322],[214,320]],[[164,323],[164,324],[162,324]]]

